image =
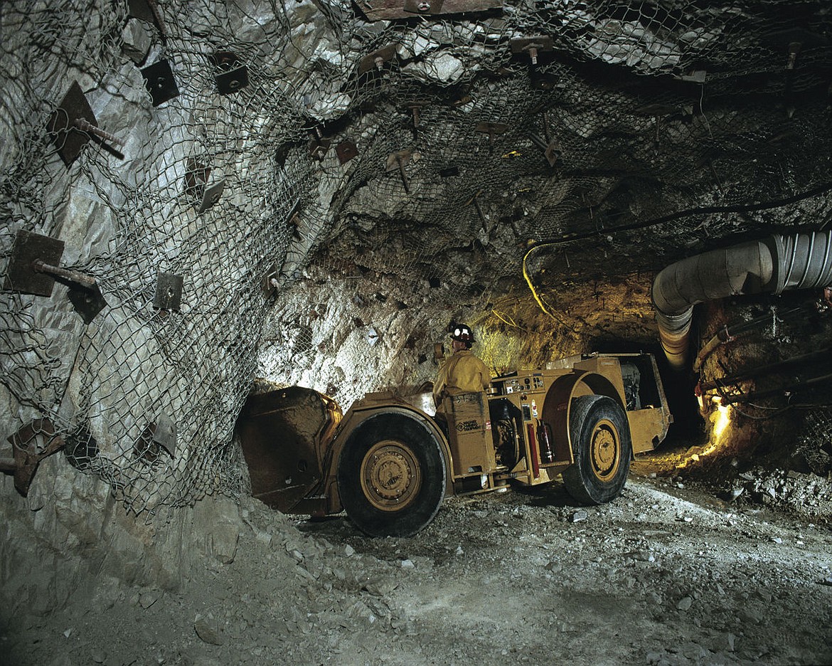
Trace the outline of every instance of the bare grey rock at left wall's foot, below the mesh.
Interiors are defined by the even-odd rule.
[[[73,596],[108,588],[180,589],[192,567],[228,564],[243,527],[235,500],[211,497],[153,524],[127,513],[109,485],[57,457],[41,464],[25,499],[2,477],[0,624],[46,615]],[[140,600],[141,601],[141,600]]]

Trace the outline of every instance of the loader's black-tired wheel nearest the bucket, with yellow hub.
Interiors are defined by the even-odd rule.
[[[390,477],[390,488],[379,488],[384,485],[379,483],[380,476],[387,469],[384,461],[374,463],[379,455],[396,474]],[[405,469],[409,471],[401,474]],[[399,506],[393,495],[396,481],[403,476],[409,481],[403,482],[404,488],[399,487],[404,496]],[[377,483],[372,482],[373,478]],[[398,413],[371,416],[359,425],[341,451],[338,492],[349,519],[365,534],[412,536],[433,520],[442,504],[442,447],[428,426],[416,418]]]

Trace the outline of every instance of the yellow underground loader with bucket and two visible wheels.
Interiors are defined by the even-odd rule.
[[[448,495],[551,483],[578,503],[621,494],[634,454],[672,422],[649,354],[578,355],[446,398],[369,393],[345,413],[300,386],[251,395],[236,426],[252,495],[291,514],[346,511],[372,536],[410,536]]]

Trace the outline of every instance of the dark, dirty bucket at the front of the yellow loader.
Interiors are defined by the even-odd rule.
[[[329,398],[301,386],[250,395],[236,430],[251,495],[291,513],[321,480],[320,435],[339,415]]]

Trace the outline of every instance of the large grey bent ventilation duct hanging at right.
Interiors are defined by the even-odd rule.
[[[661,346],[671,367],[682,370],[697,303],[830,285],[832,231],[775,235],[676,261],[653,281]]]

